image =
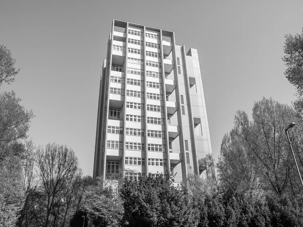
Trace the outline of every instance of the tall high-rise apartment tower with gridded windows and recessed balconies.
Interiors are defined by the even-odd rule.
[[[212,148],[198,53],[174,32],[113,20],[99,92],[94,180],[203,172]]]

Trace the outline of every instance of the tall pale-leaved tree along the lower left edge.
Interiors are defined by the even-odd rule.
[[[20,101],[13,91],[0,94],[0,226],[16,222],[24,201],[23,183],[28,180],[24,174],[32,149],[26,138],[34,116]]]

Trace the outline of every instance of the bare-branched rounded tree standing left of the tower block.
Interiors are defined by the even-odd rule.
[[[71,198],[81,170],[72,149],[58,144],[37,148],[37,188],[40,226],[67,226],[72,213]]]

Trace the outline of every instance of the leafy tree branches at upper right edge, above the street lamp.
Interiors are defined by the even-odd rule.
[[[284,75],[297,90],[295,109],[303,115],[303,28],[301,34],[285,35],[283,61],[286,65]]]

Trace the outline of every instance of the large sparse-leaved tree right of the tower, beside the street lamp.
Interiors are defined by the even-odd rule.
[[[233,130],[221,145],[218,168],[222,182],[234,191],[249,185],[250,189],[270,190],[279,196],[289,191],[295,194],[290,181],[297,184],[298,178],[292,172],[294,164],[285,137],[291,121],[300,121],[295,111],[272,98],[255,102],[251,121],[245,112],[238,111]],[[299,134],[292,138],[299,140]]]

